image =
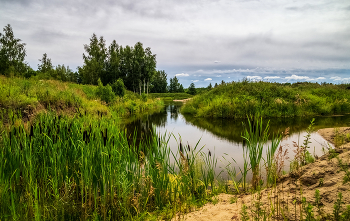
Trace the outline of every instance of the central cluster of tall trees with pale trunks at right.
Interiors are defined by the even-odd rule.
[[[115,40],[107,48],[106,41],[93,34],[90,44],[84,45],[84,65],[79,67],[79,75],[84,84],[98,84],[101,79],[104,85],[113,84],[121,78],[127,89],[141,93],[147,92],[148,86],[156,73],[156,56],[149,47],[143,48],[141,42],[134,47],[119,46]]]

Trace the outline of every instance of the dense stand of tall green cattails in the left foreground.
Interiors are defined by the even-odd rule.
[[[11,119],[0,137],[1,220],[167,219],[215,190],[213,157],[181,143],[172,153],[154,132],[136,145],[105,117]]]

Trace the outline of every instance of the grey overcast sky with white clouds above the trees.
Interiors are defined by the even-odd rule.
[[[47,53],[76,70],[96,33],[107,45],[142,42],[184,87],[244,77],[350,82],[348,0],[0,0],[7,24],[34,69]]]

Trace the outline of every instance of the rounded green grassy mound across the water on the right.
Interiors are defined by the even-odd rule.
[[[197,117],[245,118],[333,115],[350,112],[348,84],[231,82],[187,102],[182,113]]]

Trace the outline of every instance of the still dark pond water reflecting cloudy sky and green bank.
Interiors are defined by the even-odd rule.
[[[241,134],[244,130],[246,120],[229,119],[204,119],[184,116],[180,113],[182,103],[170,102],[160,111],[136,117],[131,122],[125,123],[130,135],[136,134],[136,139],[147,139],[150,128],[155,127],[156,132],[170,137],[169,145],[175,153],[178,150],[179,140],[183,144],[189,144],[192,148],[197,145],[197,149],[203,148],[203,152],[215,154],[218,159],[217,172],[230,162],[236,161],[236,168],[242,167],[243,160],[243,139]],[[314,117],[314,131],[311,134],[309,152],[312,155],[321,156],[322,149],[329,144],[318,133],[317,130],[330,127],[350,126],[350,114],[332,117]],[[283,149],[288,149],[288,157],[284,170],[289,170],[289,162],[294,158],[294,144],[302,145],[306,129],[312,117],[305,118],[273,118],[264,119],[264,123],[269,122],[270,134],[285,131],[289,128],[289,136],[285,138],[281,145]],[[135,133],[136,132],[136,133]],[[295,143],[294,143],[295,142]],[[269,145],[267,143],[266,145]],[[265,152],[265,151],[264,151]],[[225,160],[225,159],[226,160]]]

